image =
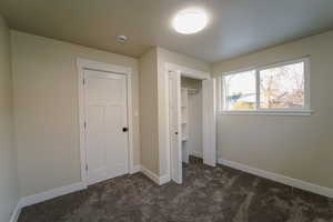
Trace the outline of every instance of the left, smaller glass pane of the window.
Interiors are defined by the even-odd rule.
[[[255,109],[255,71],[240,72],[224,77],[225,110]]]

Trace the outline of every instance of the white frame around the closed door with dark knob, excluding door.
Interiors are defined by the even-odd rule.
[[[105,62],[98,62],[77,58],[78,69],[78,92],[79,92],[79,130],[80,130],[80,165],[81,165],[81,181],[88,185],[87,165],[87,145],[85,145],[85,97],[84,97],[84,70],[104,71],[114,74],[123,74],[127,77],[127,104],[128,104],[128,127],[129,127],[129,151],[128,151],[128,171],[134,172],[133,164],[133,111],[132,111],[132,69],[129,67],[121,67]]]

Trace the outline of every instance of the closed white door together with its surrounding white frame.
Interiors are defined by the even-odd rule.
[[[133,165],[131,74],[128,68],[82,59],[78,68],[81,178],[90,185]]]

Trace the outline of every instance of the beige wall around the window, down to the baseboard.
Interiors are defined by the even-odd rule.
[[[310,56],[311,117],[220,115],[219,157],[333,188],[333,31],[213,64],[225,71]]]

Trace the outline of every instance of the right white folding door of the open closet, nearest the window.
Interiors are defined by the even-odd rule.
[[[215,80],[202,81],[202,155],[203,163],[216,165]]]

